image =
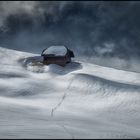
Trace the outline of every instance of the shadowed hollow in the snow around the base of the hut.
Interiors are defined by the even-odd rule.
[[[22,62],[23,67],[25,67],[27,70],[30,70],[32,72],[38,72],[38,73],[47,72],[47,73],[64,75],[69,72],[82,68],[82,65],[78,62],[72,62],[70,64],[67,64],[65,67],[61,67],[55,64],[44,66],[42,64],[42,61],[43,61],[42,56],[33,56],[33,57],[28,57],[28,58],[20,60],[20,62]]]

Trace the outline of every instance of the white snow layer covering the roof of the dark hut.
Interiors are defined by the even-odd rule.
[[[66,53],[67,48],[65,46],[50,46],[43,52],[43,54],[54,54],[55,56],[63,56]]]

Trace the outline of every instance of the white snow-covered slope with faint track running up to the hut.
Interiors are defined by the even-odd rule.
[[[0,47],[0,138],[140,138],[140,73],[37,55]]]

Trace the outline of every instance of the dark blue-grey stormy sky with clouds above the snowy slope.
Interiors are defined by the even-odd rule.
[[[139,58],[139,17],[138,1],[1,1],[0,46],[66,45],[79,55]]]

